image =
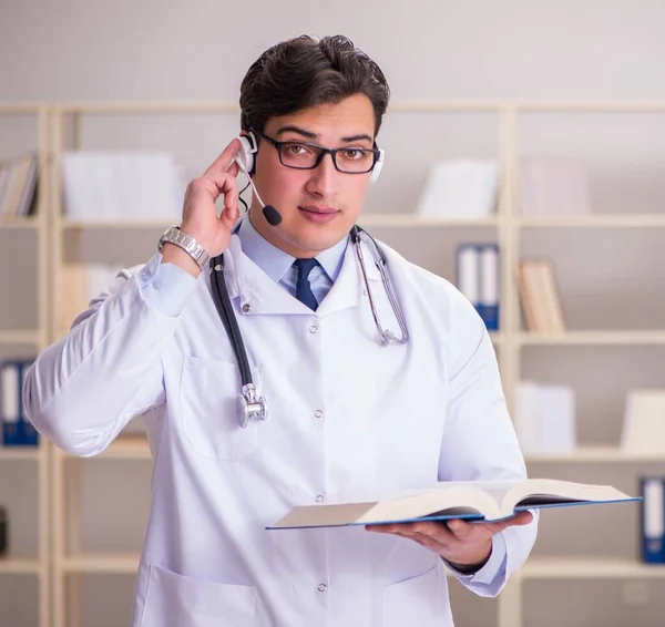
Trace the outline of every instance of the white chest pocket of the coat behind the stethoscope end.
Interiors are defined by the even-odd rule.
[[[257,392],[260,368],[252,368]],[[198,454],[238,461],[258,446],[259,422],[241,426],[241,373],[237,363],[187,357],[181,380],[183,433]]]

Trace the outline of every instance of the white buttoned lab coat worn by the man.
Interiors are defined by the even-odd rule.
[[[168,288],[151,282],[158,255],[123,273],[35,361],[29,417],[74,455],[100,453],[145,413],[153,502],[132,627],[452,625],[447,566],[419,544],[362,527],[265,530],[297,504],[525,476],[482,321],[449,282],[382,249],[406,346],[379,346],[351,246],[314,312],[233,236],[225,276],[269,404],[268,420],[246,429],[208,274],[181,295],[180,314],[164,315],[142,296]],[[397,332],[367,267],[381,320]],[[494,536],[481,571],[454,575],[495,596],[526,559],[536,523]]]

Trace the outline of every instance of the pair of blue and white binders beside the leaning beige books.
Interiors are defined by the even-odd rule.
[[[499,330],[499,247],[462,244],[457,258],[458,289],[473,305],[488,331]]]

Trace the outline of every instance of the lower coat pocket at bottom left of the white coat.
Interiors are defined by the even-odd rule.
[[[141,627],[249,627],[256,588],[216,584],[150,567]]]

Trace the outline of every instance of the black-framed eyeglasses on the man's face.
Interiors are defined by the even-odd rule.
[[[314,169],[329,154],[337,171],[345,174],[365,174],[374,169],[380,155],[377,148],[324,148],[308,142],[277,142],[256,130],[254,133],[277,148],[282,165],[295,169]]]

